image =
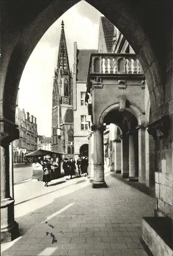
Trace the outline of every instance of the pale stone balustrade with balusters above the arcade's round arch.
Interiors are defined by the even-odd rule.
[[[136,54],[91,54],[90,74],[143,74]]]

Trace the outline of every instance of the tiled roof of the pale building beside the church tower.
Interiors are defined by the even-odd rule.
[[[96,49],[77,50],[76,81],[87,82],[91,53],[98,53],[98,50],[96,50]]]

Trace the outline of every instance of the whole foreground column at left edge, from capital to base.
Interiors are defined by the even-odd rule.
[[[14,199],[10,196],[10,142],[19,138],[19,132],[8,120],[1,120],[1,243],[19,236],[14,220]]]

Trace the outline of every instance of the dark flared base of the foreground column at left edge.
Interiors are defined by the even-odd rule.
[[[14,221],[12,226],[1,228],[1,244],[10,242],[19,237],[18,223]]]

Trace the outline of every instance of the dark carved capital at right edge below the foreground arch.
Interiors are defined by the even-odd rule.
[[[169,116],[163,116],[159,120],[147,125],[148,133],[153,136],[154,140],[166,138],[169,130]]]

